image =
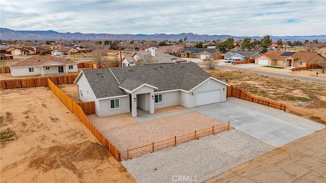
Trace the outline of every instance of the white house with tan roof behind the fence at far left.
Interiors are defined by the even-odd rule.
[[[78,72],[77,64],[65,59],[52,56],[34,56],[16,62],[8,63],[11,75],[49,75],[49,74],[68,74]]]

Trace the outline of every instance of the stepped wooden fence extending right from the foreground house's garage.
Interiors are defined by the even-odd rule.
[[[285,104],[251,96],[249,93],[242,90],[241,88],[236,88],[233,86],[227,87],[227,97],[236,97],[236,98],[240,98],[242,100],[247,100],[247,101],[255,102],[258,104],[262,104],[264,106],[268,106],[271,108],[275,108],[275,109],[279,109],[279,110],[283,110],[283,111],[286,110]]]

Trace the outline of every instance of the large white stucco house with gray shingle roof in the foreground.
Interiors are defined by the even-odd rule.
[[[74,83],[80,100],[95,101],[99,117],[130,111],[135,117],[137,108],[153,114],[171,106],[223,102],[229,86],[195,63],[82,70]]]

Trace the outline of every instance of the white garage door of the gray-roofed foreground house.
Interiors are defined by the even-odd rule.
[[[211,90],[196,93],[196,106],[202,106],[209,103],[220,101],[221,90]]]

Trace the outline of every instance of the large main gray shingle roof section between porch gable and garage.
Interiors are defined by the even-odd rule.
[[[154,89],[154,92],[176,89],[189,91],[210,77],[195,63],[150,64],[110,69],[122,84],[121,86],[125,86],[128,90],[148,84],[158,88]],[[130,79],[137,82],[133,85]]]

